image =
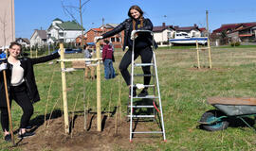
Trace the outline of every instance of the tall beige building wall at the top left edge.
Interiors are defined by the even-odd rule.
[[[0,47],[15,41],[14,0],[2,0],[0,5]]]

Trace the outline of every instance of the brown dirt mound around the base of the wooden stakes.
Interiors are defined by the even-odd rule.
[[[23,139],[19,143],[22,150],[135,150],[136,143],[153,143],[149,134],[139,135],[133,143],[129,142],[130,123],[126,118],[119,120],[118,133],[115,133],[115,117],[102,116],[102,131],[97,131],[97,115],[91,114],[87,118],[87,130],[83,129],[83,116],[76,116],[71,133],[64,133],[64,118],[59,117],[50,121],[48,127],[41,125],[36,130],[36,135]],[[138,124],[137,130],[149,130],[144,124]],[[159,137],[160,138],[160,137]],[[155,141],[159,141],[156,139]]]

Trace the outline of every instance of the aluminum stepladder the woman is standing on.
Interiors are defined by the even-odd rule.
[[[154,44],[154,33],[151,30],[137,30],[136,33],[144,33],[144,34],[151,34],[152,36],[152,50],[153,50],[153,60],[152,63],[135,63],[135,40],[133,40],[133,50],[132,50],[132,73],[131,73],[131,93],[130,93],[130,106],[128,105],[128,108],[130,108],[130,115],[128,115],[128,117],[130,117],[130,142],[132,142],[133,140],[133,134],[143,134],[143,133],[147,133],[147,134],[151,134],[151,133],[158,133],[158,134],[162,134],[163,135],[163,140],[164,142],[166,142],[166,136],[165,136],[165,128],[164,128],[164,121],[163,121],[163,112],[162,112],[162,104],[161,104],[161,95],[160,95],[160,89],[159,89],[159,83],[158,83],[158,76],[157,76],[157,67],[156,67],[156,59],[155,59],[155,44]],[[150,76],[154,76],[154,84],[153,85],[144,85],[145,88],[150,88],[153,87],[154,88],[154,95],[147,95],[145,97],[138,97],[138,96],[133,96],[133,87],[136,86],[134,84],[134,76],[141,76],[141,75],[135,75],[134,70],[135,67],[143,67],[143,66],[153,66],[153,68],[155,69],[155,76],[154,75],[150,75]],[[149,76],[149,75],[142,75],[142,76]],[[156,91],[157,91],[157,95],[155,95],[155,87],[156,87]],[[153,99],[153,105],[152,106],[134,106],[134,99]],[[158,100],[158,104],[159,104],[159,109],[157,109],[157,107],[155,106],[155,100]],[[154,118],[155,121],[155,110],[154,110],[154,115],[134,115],[133,111],[134,109],[156,109],[156,111],[160,114],[160,119],[159,119],[159,123],[160,123],[160,128],[161,131],[134,131],[133,130],[133,119],[134,118]]]

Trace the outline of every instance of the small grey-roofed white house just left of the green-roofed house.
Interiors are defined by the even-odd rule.
[[[42,47],[47,44],[47,36],[46,36],[46,30],[38,30],[35,29],[34,33],[32,34],[30,38],[30,46],[39,46]]]

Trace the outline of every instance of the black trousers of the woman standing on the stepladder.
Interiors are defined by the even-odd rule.
[[[151,63],[153,52],[152,48],[150,46],[142,49],[136,49],[135,50],[135,60],[137,57],[140,56],[142,63]],[[119,64],[119,70],[121,73],[121,76],[124,78],[127,86],[131,85],[131,76],[128,71],[129,65],[132,63],[132,49],[129,48],[129,50],[124,54],[122,57],[120,64]],[[144,75],[150,75],[150,66],[144,66],[142,67]],[[151,76],[144,76],[144,85],[150,84]]]

